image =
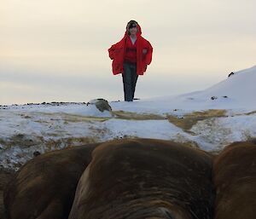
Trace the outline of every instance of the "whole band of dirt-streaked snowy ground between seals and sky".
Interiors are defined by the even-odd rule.
[[[110,101],[112,112],[84,103],[1,106],[0,166],[18,169],[34,152],[124,137],[188,142],[218,151],[230,142],[256,137],[255,82],[253,66],[202,91]]]

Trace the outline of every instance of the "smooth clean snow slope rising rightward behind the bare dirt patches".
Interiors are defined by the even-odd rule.
[[[182,109],[185,112],[205,109],[232,109],[236,112],[250,112],[256,109],[256,66],[235,72],[230,78],[213,85],[209,89],[193,93],[163,96],[138,101],[135,104],[114,103],[115,109],[131,112],[170,112]],[[216,98],[213,100],[212,97]]]

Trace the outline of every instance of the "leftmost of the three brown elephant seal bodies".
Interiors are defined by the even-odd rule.
[[[27,162],[4,191],[9,218],[67,218],[79,178],[97,145],[45,153]]]

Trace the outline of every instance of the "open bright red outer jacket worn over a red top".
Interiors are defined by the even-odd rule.
[[[125,36],[118,42],[108,49],[108,54],[112,62],[113,75],[124,72],[123,63],[126,50],[128,31],[125,31]],[[147,49],[147,54],[143,55],[143,49]],[[137,25],[137,74],[143,75],[146,72],[147,66],[152,61],[153,48],[151,44],[142,37],[142,30],[139,25]]]

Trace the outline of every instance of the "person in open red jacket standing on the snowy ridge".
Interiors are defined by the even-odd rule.
[[[122,73],[125,101],[133,101],[137,78],[146,72],[152,61],[153,48],[142,37],[141,26],[136,20],[130,20],[125,36],[108,49],[112,62],[113,75]]]

